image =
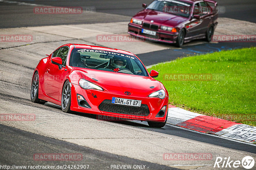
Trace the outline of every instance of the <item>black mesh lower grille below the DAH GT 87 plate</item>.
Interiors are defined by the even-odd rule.
[[[141,104],[140,107],[125,106],[120,104],[113,104],[111,103],[111,100],[104,100],[102,103],[100,103],[99,110],[136,116],[149,115],[149,109],[146,104]]]

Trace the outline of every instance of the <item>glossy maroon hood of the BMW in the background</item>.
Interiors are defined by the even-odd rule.
[[[156,24],[156,25],[166,25],[171,27],[176,27],[180,23],[188,20],[188,18],[180,17],[174,14],[165,13],[161,11],[154,11],[145,9],[137,13],[133,18],[140,19],[144,22]]]

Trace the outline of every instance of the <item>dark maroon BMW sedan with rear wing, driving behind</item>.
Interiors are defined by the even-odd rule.
[[[155,0],[134,15],[128,33],[143,39],[176,43],[193,39],[211,41],[218,24],[213,0]]]

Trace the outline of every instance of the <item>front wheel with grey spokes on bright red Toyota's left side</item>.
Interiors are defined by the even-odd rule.
[[[71,87],[69,81],[64,83],[61,93],[61,109],[63,112],[72,113],[70,110],[71,105]]]

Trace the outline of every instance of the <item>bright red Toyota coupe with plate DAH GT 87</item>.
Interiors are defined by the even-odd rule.
[[[65,44],[39,61],[31,101],[61,105],[64,112],[84,112],[163,127],[168,92],[131,52],[101,46]]]

